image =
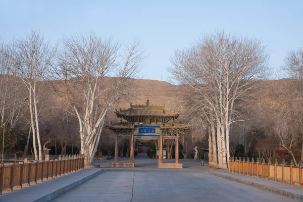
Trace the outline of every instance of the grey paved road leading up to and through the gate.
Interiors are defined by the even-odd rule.
[[[199,161],[182,160],[184,169],[158,169],[157,160],[146,156],[136,157],[135,162],[136,168],[132,169],[111,169],[107,168],[109,161],[97,162],[105,167],[105,172],[53,201],[295,201],[209,175]]]

